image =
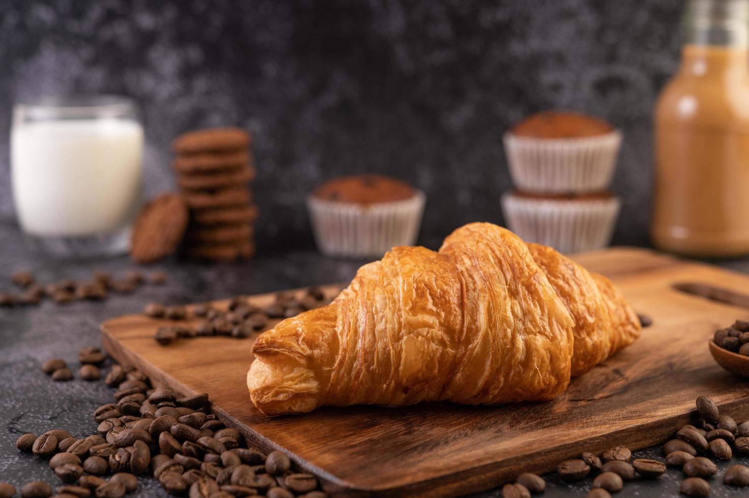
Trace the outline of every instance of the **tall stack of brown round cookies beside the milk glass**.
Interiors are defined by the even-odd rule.
[[[249,134],[239,128],[185,133],[174,142],[177,184],[189,208],[184,252],[234,260],[255,253],[258,209],[248,183],[255,178]]]

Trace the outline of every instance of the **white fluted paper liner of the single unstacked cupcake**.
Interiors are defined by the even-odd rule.
[[[318,249],[328,256],[379,258],[393,246],[413,246],[426,196],[360,205],[307,197]]]

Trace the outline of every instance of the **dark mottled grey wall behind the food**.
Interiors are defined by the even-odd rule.
[[[238,124],[255,136],[266,249],[309,245],[304,195],[378,171],[428,193],[422,243],[502,222],[504,130],[578,109],[625,140],[616,243],[647,243],[651,115],[678,64],[682,0],[15,0],[0,14],[0,212],[13,101],[136,97],[146,189],[172,187],[169,142]]]

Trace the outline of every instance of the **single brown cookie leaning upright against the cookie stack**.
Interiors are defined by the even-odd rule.
[[[151,263],[175,252],[184,237],[188,216],[187,204],[179,194],[162,194],[148,202],[133,226],[133,261]]]

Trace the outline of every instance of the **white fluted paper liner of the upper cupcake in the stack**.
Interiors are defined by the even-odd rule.
[[[503,136],[510,176],[526,192],[600,192],[611,183],[622,133],[581,139]]]

